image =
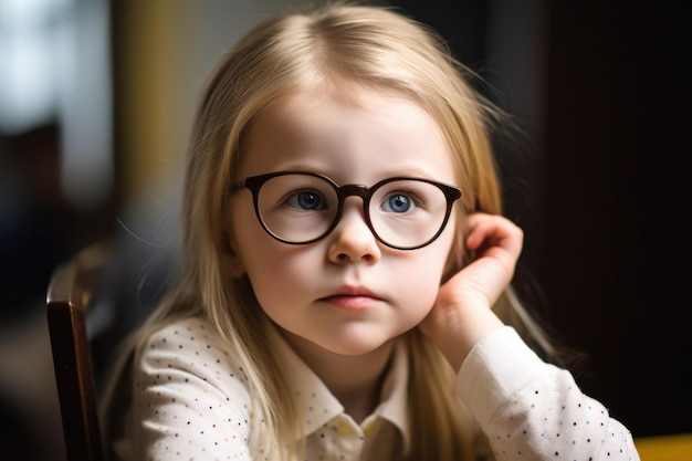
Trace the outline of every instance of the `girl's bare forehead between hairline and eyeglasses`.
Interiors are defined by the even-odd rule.
[[[358,165],[379,167],[381,175],[450,176],[442,130],[421,105],[392,92],[348,90],[298,92],[273,102],[245,132],[238,176],[322,166],[357,171]]]

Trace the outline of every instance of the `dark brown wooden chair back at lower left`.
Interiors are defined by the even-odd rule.
[[[103,289],[107,247],[95,245],[59,266],[48,291],[48,323],[69,461],[104,459],[87,315]]]

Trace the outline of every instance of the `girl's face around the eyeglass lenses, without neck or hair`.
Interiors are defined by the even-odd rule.
[[[376,93],[359,96],[358,104],[324,94],[275,104],[243,139],[238,177],[298,170],[322,174],[338,186],[371,187],[395,176],[454,185],[440,128],[421,107]],[[311,193],[287,198],[301,211],[319,208],[314,199]],[[331,233],[287,244],[264,231],[250,190],[231,200],[227,230],[234,256],[229,264],[235,273],[247,272],[260,305],[294,346],[367,354],[413,328],[432,307],[454,240],[454,213],[432,243],[396,250],[376,239],[363,199],[350,196]]]

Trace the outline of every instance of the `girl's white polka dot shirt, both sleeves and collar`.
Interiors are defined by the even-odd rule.
[[[279,334],[272,340],[303,415],[305,461],[402,459],[410,440],[402,344],[379,406],[357,423]],[[180,321],[151,335],[132,381],[133,404],[113,444],[120,460],[253,460],[249,442],[262,428],[251,422],[248,378],[210,325]],[[497,461],[639,459],[627,429],[510,327],[476,345],[457,389]]]

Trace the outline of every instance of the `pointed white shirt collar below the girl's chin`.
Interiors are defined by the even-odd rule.
[[[270,329],[272,331],[272,345],[279,358],[279,366],[286,379],[290,391],[295,398],[297,410],[303,417],[303,433],[307,437],[332,419],[344,413],[344,406],[293,350],[281,334],[274,328]],[[410,443],[407,407],[408,377],[409,366],[406,344],[403,340],[397,340],[391,366],[382,383],[380,402],[373,415],[364,420],[364,425],[377,417],[390,421],[401,432],[405,447],[409,447]]]

